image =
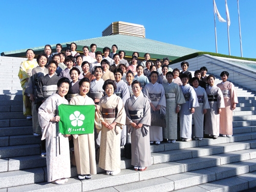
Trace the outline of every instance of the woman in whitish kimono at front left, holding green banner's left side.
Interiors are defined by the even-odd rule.
[[[46,163],[48,182],[64,184],[71,177],[69,135],[58,133],[58,105],[68,104],[65,99],[69,91],[69,79],[57,82],[57,93],[50,96],[38,109],[38,120],[42,128],[42,140],[46,139]]]

